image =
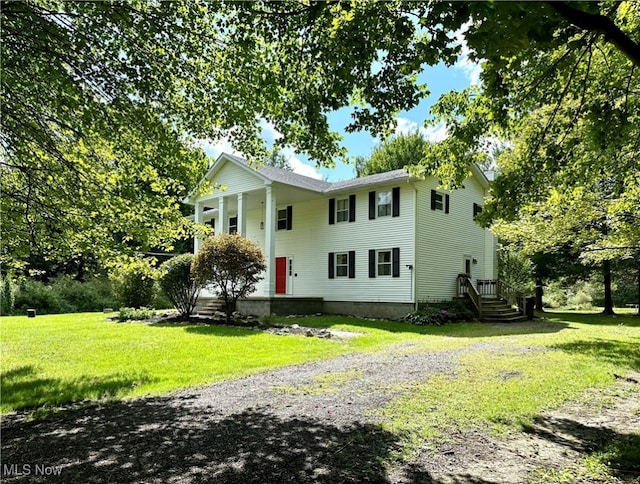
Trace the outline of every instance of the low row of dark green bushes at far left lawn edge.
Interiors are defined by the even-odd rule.
[[[115,307],[110,281],[103,276],[77,281],[61,275],[46,284],[34,279],[24,279],[18,286],[15,312],[24,314],[29,308],[38,314],[102,311]]]

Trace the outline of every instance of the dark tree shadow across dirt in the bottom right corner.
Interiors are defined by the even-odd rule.
[[[611,474],[625,482],[625,479],[636,482],[634,479],[640,475],[640,435],[553,417],[538,417],[524,431],[575,450],[584,457],[598,457]]]

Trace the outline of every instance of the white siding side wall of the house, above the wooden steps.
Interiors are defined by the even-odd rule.
[[[494,238],[473,221],[473,204],[483,204],[484,189],[473,178],[465,180],[464,186],[453,192],[439,190],[449,193],[449,213],[445,213],[431,210],[431,190],[437,189],[437,181],[416,183],[418,301],[454,297],[456,277],[465,270],[465,256],[478,261],[471,264],[474,280],[494,277]]]

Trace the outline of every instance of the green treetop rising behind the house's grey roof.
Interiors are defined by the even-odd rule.
[[[417,165],[430,143],[419,132],[399,134],[376,146],[368,160],[356,160],[359,177]]]

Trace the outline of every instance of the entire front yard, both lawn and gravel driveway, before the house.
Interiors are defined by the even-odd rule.
[[[359,334],[344,339],[225,326],[116,323],[102,314],[3,318],[2,409],[35,410],[31,417],[36,418],[26,427],[20,419],[8,419],[6,435],[15,434],[15,440],[14,445],[11,438],[6,441],[5,451],[35,459],[37,454],[29,452],[39,444],[29,434],[42,427],[48,429],[42,438],[60,434],[59,461],[64,462],[83,444],[72,452],[66,433],[56,428],[91,422],[86,419],[96,401],[124,400],[95,411],[105,429],[106,422],[114,431],[119,424],[127,429],[124,447],[100,465],[124,466],[131,449],[140,445],[140,425],[151,429],[146,439],[159,446],[181,432],[202,429],[201,438],[211,446],[209,461],[200,468],[204,475],[226,475],[228,461],[216,460],[221,453],[228,454],[225,459],[246,459],[219,440],[220,428],[231,432],[226,426],[239,432],[225,434],[227,441],[255,448],[269,459],[286,454],[295,461],[298,451],[273,434],[277,423],[282,438],[293,438],[300,452],[325,462],[328,467],[318,469],[331,477],[318,478],[314,473],[320,470],[307,468],[315,464],[306,459],[293,470],[277,467],[278,479],[409,482],[406,476],[421,466],[420,478],[447,473],[464,481],[458,471],[466,465],[475,472],[473,482],[525,482],[519,474],[525,471],[526,482],[638,482],[640,318],[630,313],[550,312],[526,323],[443,327],[329,316],[275,320]],[[293,364],[299,366],[286,368]],[[267,372],[276,368],[281,369]],[[247,375],[254,376],[235,380]],[[206,387],[223,380],[222,386]],[[195,386],[201,388],[178,391]],[[134,398],[174,391],[175,398]],[[63,420],[46,418],[71,402],[89,407]],[[600,418],[604,413],[610,421]],[[245,420],[243,430],[238,422]],[[308,430],[316,427],[335,441],[318,441]],[[87,445],[98,446],[94,440]],[[184,454],[182,459],[194,452],[189,442],[173,448]],[[545,449],[555,457],[545,457]],[[98,446],[86,460],[80,458],[78,475],[93,476],[98,464],[91,455],[104,450]],[[486,464],[485,474],[478,474],[485,465],[479,463]],[[140,465],[140,476],[151,472],[159,480],[185,472],[171,462],[163,462],[162,471],[158,462]],[[244,465],[240,475],[248,482],[254,482],[256,472],[267,472],[261,474],[264,479],[276,477],[262,461],[253,462],[255,468],[246,467],[247,461]]]

